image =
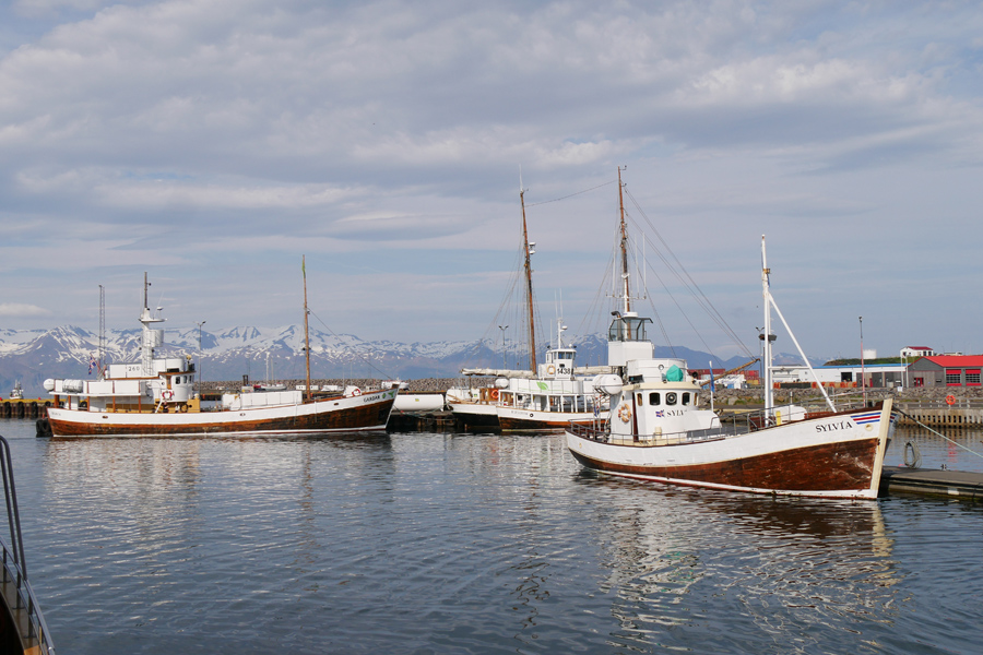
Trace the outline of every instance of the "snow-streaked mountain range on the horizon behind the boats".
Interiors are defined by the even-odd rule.
[[[141,330],[107,331],[102,361],[135,361],[140,358]],[[199,358],[199,334],[200,358]],[[0,329],[0,396],[21,382],[25,397],[46,397],[47,378],[93,379],[90,362],[99,359],[99,337],[83,327],[63,325],[51,330]],[[578,366],[601,365],[607,360],[606,335],[582,337],[577,344]],[[454,378],[462,368],[499,368],[502,350],[487,341],[443,341],[403,344],[391,341],[363,341],[352,334],[311,330],[310,373],[312,379],[401,379]],[[205,381],[251,381],[304,379],[304,330],[282,327],[228,327],[201,331],[198,327],[168,329],[158,356],[187,356],[200,361]],[[694,368],[704,368],[712,359],[715,367],[733,368],[744,357],[719,360],[712,355],[685,347],[655,347],[656,357],[682,357]],[[517,357],[520,361],[517,364]],[[783,356],[781,359],[797,357]],[[524,368],[525,353],[509,348],[505,361],[511,368]],[[719,364],[718,364],[719,362]]]

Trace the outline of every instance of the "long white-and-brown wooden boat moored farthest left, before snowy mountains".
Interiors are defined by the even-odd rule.
[[[71,437],[201,437],[265,433],[323,433],[384,431],[395,402],[396,389],[315,396],[310,384],[309,337],[307,384],[303,390],[244,388],[225,393],[221,406],[209,410],[194,394],[194,365],[191,357],[154,357],[164,344],[164,331],[154,329],[164,321],[146,302],[144,307],[140,361],[99,366],[97,380],[45,380],[45,390],[55,396],[48,407],[47,427],[38,436]],[[307,274],[304,282],[304,329],[307,334]]]

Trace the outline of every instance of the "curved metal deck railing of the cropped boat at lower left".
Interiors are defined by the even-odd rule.
[[[21,535],[21,515],[17,510],[17,490],[14,486],[10,444],[0,436],[0,471],[3,476],[3,496],[7,501],[7,522],[10,527],[10,544],[0,535],[0,550],[3,551],[2,586],[14,622],[21,630],[22,643],[29,643],[35,652],[55,655],[55,645],[45,617],[42,615],[27,582],[27,563],[24,561],[24,539]],[[23,632],[26,630],[26,634]],[[27,648],[25,648],[26,651]]]

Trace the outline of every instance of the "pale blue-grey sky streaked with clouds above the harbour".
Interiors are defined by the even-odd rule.
[[[662,241],[756,348],[767,234],[810,356],[861,315],[980,353],[981,64],[979,2],[10,0],[0,327],[96,329],[99,285],[137,326],[144,271],[169,326],[298,323],[306,255],[332,331],[494,337],[521,169],[540,311],[582,332],[621,166],[673,344],[736,354]]]

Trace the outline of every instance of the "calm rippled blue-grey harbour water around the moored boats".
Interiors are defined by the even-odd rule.
[[[983,652],[980,504],[619,480],[561,437],[0,433],[61,654]]]

